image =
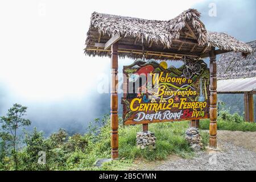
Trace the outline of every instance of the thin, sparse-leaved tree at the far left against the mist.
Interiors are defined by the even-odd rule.
[[[18,139],[17,131],[20,127],[31,125],[31,121],[29,119],[23,118],[24,115],[26,115],[26,111],[27,107],[20,104],[14,104],[13,107],[8,110],[6,116],[1,117],[0,119],[3,130],[1,133],[7,135],[11,141],[15,169],[18,169],[18,159],[16,156],[16,142]]]

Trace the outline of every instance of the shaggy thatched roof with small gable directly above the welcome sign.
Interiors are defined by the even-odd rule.
[[[142,43],[147,49],[147,59],[180,59],[182,55],[186,55],[184,52],[199,57],[211,51],[212,47],[226,51],[251,52],[249,46],[232,36],[208,32],[200,20],[200,13],[189,9],[167,21],[94,12],[85,43],[86,55],[110,56],[110,50],[96,47],[95,43],[106,43],[116,34],[122,37],[118,44],[138,47],[135,51],[119,48],[121,57],[142,57]]]

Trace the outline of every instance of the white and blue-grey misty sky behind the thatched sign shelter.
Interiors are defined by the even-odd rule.
[[[209,16],[214,5],[216,16]],[[0,115],[18,102],[28,106],[27,117],[39,130],[84,131],[110,105],[109,94],[97,92],[102,75],[109,79],[110,59],[83,51],[93,11],[168,20],[191,7],[202,13],[208,30],[256,39],[254,0],[1,1]],[[119,59],[119,72],[132,62]]]

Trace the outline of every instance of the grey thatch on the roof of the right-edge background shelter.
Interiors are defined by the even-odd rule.
[[[256,40],[247,44],[253,48],[253,53],[246,57],[236,52],[220,57],[217,61],[218,80],[256,77]]]

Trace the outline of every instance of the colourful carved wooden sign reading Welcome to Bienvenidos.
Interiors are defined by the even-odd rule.
[[[125,125],[209,118],[210,75],[203,60],[175,68],[137,59],[123,74]]]

